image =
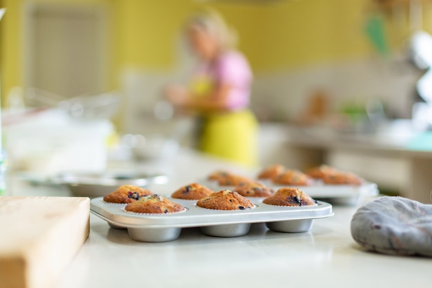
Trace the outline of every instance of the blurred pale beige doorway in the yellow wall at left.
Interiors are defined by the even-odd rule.
[[[107,17],[103,6],[30,3],[24,10],[26,87],[62,97],[107,88]]]

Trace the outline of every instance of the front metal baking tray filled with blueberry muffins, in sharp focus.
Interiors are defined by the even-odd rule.
[[[313,200],[300,189],[244,197],[198,183],[181,186],[170,196],[120,186],[103,198],[92,199],[90,211],[114,229],[127,229],[131,239],[141,242],[175,240],[186,227],[199,227],[208,236],[244,236],[251,224],[263,222],[272,231],[306,232],[313,220],[333,215],[331,204]]]

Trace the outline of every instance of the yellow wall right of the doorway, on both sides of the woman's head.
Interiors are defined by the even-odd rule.
[[[202,5],[191,0],[122,1],[123,63],[166,69],[181,24]],[[240,36],[255,71],[313,64],[371,52],[363,32],[366,0],[208,1]],[[145,51],[145,52],[144,52]]]

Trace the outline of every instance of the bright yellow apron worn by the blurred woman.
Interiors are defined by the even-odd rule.
[[[197,97],[213,89],[210,79],[199,75],[190,88]],[[258,122],[250,110],[207,113],[199,135],[199,148],[204,153],[222,157],[246,166],[258,164]]]

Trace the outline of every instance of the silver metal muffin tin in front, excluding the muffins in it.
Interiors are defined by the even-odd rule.
[[[130,213],[124,210],[126,204],[108,203],[102,198],[91,200],[90,211],[112,228],[128,229],[130,238],[142,242],[175,240],[186,227],[200,227],[208,236],[244,236],[252,223],[259,222],[277,232],[306,232],[314,219],[333,215],[331,204],[321,201],[309,207],[279,207],[262,203],[264,198],[248,198],[255,208],[221,211],[197,207],[196,201],[166,198],[183,205],[186,211],[154,215]]]

